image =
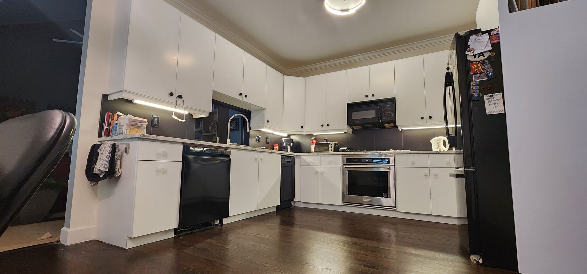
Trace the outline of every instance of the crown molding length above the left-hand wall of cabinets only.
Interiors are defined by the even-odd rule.
[[[185,13],[186,15],[193,18],[195,21],[198,21],[206,28],[210,29],[211,31],[217,33],[218,35],[224,37],[225,39],[229,40],[234,45],[237,45],[239,48],[243,49],[245,52],[249,53],[252,56],[255,56],[257,59],[261,60],[265,64],[270,67],[273,67],[275,70],[282,74],[286,74],[287,69],[284,66],[275,62],[275,60],[271,59],[271,57],[265,55],[265,53],[261,52],[251,44],[247,43],[247,41],[241,39],[233,32],[229,31],[228,29],[224,28],[224,26],[220,25],[220,23],[214,21],[214,19],[208,17],[200,10],[194,8],[194,6],[190,5],[185,0],[165,0],[172,6],[175,6],[177,9]]]

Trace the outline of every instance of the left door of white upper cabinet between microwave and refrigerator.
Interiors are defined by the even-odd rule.
[[[421,55],[395,60],[397,125],[426,124],[424,60]]]

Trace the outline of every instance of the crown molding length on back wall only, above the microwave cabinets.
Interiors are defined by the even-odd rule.
[[[295,67],[294,69],[288,69],[287,72],[288,72],[288,75],[296,75],[299,73],[311,72],[312,70],[327,69],[328,67],[334,67],[334,66],[344,65],[344,64],[348,64],[348,63],[369,60],[369,59],[387,56],[387,55],[394,55],[397,53],[407,52],[410,50],[427,48],[429,46],[441,45],[441,44],[444,44],[447,42],[452,42],[453,38],[454,38],[454,34],[438,36],[436,38],[430,38],[430,39],[421,40],[418,42],[407,43],[404,45],[393,46],[393,47],[385,48],[385,49],[373,50],[372,52],[359,53],[357,55],[328,60],[325,62],[315,63],[312,65]]]

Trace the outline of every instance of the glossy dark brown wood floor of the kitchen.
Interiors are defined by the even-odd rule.
[[[456,225],[289,208],[124,250],[0,253],[0,273],[514,273],[470,263]]]

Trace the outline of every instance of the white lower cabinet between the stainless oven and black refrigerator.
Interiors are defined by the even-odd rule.
[[[454,159],[453,154],[450,157],[441,154],[396,155],[397,211],[448,217],[467,216],[465,186],[448,175],[455,171],[454,161],[448,158]],[[434,167],[440,165],[438,163],[453,167]],[[412,167],[414,165],[416,167]]]

